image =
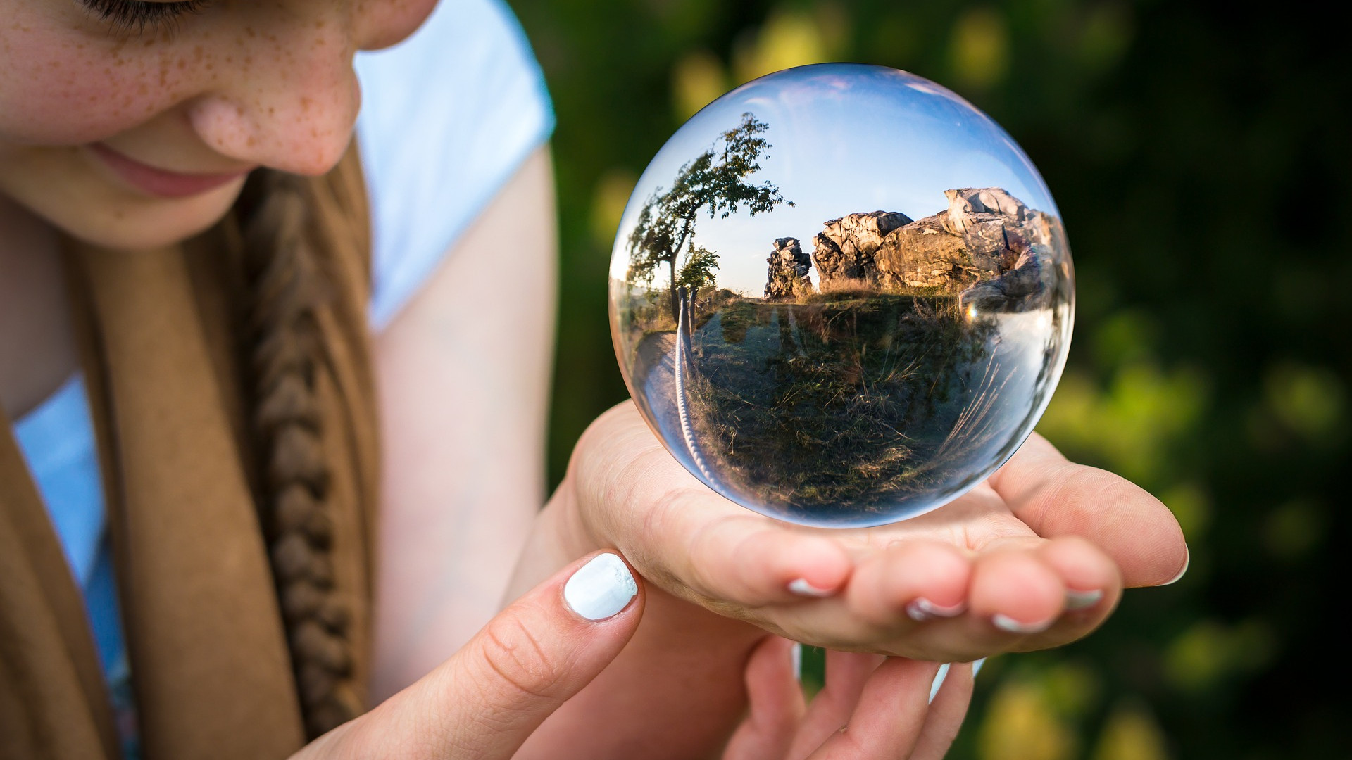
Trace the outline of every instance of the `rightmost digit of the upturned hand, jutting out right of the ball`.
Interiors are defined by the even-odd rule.
[[[1033,434],[990,479],[1038,536],[1083,536],[1102,546],[1126,586],[1161,586],[1187,569],[1187,544],[1159,499],[1111,472],[1067,461]]]

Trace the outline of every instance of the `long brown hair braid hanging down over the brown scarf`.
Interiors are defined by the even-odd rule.
[[[251,425],[261,457],[260,510],[311,738],[354,718],[350,610],[334,590],[316,373],[316,310],[329,300],[312,211],[314,180],[273,170],[250,179],[242,201]],[[251,206],[251,208],[247,208]]]

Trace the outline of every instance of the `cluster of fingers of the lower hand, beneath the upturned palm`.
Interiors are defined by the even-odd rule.
[[[826,686],[803,699],[777,636],[746,665],[749,711],[723,760],[940,760],[972,698],[972,667],[952,665],[929,700],[938,665],[903,657],[826,653]]]

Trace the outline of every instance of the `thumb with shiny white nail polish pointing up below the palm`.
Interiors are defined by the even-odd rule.
[[[349,736],[334,737],[346,746],[315,757],[508,759],[619,655],[642,607],[619,554],[579,560],[488,621],[435,671],[349,723]]]

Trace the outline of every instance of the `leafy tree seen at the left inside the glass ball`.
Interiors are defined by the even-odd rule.
[[[629,234],[629,281],[644,281],[649,285],[657,268],[667,265],[669,275],[672,315],[680,304],[676,288],[683,284],[685,272],[700,273],[713,281],[711,269],[718,266],[718,254],[703,247],[695,249],[695,219],[708,214],[710,219],[726,219],[745,207],[752,216],[772,211],[784,200],[779,187],[769,180],[756,185],[746,177],[760,170],[760,158],[773,147],[760,137],[769,124],[756,120],[754,114],[742,114],[741,123],[725,131],[704,153],[687,161],[672,181],[669,189],[658,187],[644,203],[638,222]],[[676,258],[687,250],[687,262],[681,276],[676,275]],[[702,262],[691,269],[694,256],[699,252]],[[687,283],[688,284],[688,283]]]

